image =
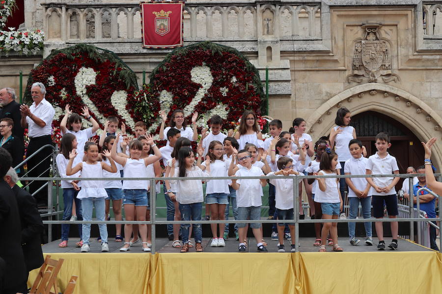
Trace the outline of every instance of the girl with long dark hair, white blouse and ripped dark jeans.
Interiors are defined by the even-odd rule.
[[[179,203],[180,212],[183,221],[201,221],[201,209],[203,202],[203,189],[200,179],[192,180],[192,177],[208,177],[210,176],[210,159],[207,157],[205,161],[206,169],[201,171],[200,168],[194,165],[195,156],[193,150],[190,147],[182,147],[178,151],[178,167],[175,168],[176,161],[172,159],[172,170],[170,171],[170,177],[175,175],[186,179],[171,181],[172,184],[177,184],[176,200]],[[181,224],[183,247],[181,252],[189,251],[189,228],[190,224]],[[193,234],[195,236],[195,250],[196,252],[202,252],[202,230],[201,224],[193,224]]]

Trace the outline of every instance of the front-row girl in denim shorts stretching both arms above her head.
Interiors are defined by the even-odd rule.
[[[116,141],[119,140],[118,133]],[[154,150],[154,156],[141,158],[143,152],[143,145],[140,141],[134,140],[129,144],[130,158],[120,156],[116,152],[116,145],[111,149],[111,156],[117,163],[123,167],[125,177],[148,177],[146,167],[155,161],[160,160],[160,149],[155,145],[152,137],[146,135],[147,143]],[[149,189],[149,181],[147,180],[126,180],[123,181],[123,206],[126,215],[126,221],[133,221],[135,213],[137,214],[137,221],[146,220],[146,209],[148,206],[147,190]],[[152,187],[152,189],[155,189]],[[142,240],[143,251],[150,251],[147,242],[147,226],[145,224],[138,225],[139,233]],[[120,251],[128,251],[130,247],[130,238],[132,234],[132,224],[124,226],[124,246]]]

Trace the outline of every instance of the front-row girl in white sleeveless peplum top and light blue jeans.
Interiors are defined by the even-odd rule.
[[[111,165],[105,162],[98,162],[98,146],[93,142],[86,142],[84,145],[84,156],[86,161],[78,163],[72,167],[77,151],[72,149],[69,153],[69,162],[66,167],[66,175],[73,175],[82,171],[83,178],[103,177],[103,170],[108,172],[117,172],[115,162],[111,159],[111,153],[104,151],[103,156],[108,158]],[[105,198],[107,197],[104,189],[104,181],[83,181],[82,190],[78,193],[77,198],[82,200],[83,220],[92,221],[92,211],[95,206],[95,214],[98,221],[106,221],[105,216]],[[108,230],[106,224],[99,224],[101,236],[101,251],[109,251]],[[90,223],[84,223],[83,229],[83,246],[81,252],[89,251]]]

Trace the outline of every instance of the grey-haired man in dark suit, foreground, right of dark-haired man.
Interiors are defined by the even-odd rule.
[[[44,262],[41,250],[41,234],[44,226],[38,213],[37,203],[28,191],[16,185],[17,173],[13,168],[4,176],[4,180],[15,194],[22,224],[22,249],[25,256],[26,268],[29,271],[38,269]]]

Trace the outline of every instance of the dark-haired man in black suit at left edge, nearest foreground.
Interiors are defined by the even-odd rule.
[[[19,210],[14,192],[3,180],[12,164],[8,151],[0,147],[0,258],[6,263],[1,294],[26,293],[27,270],[23,256]]]

